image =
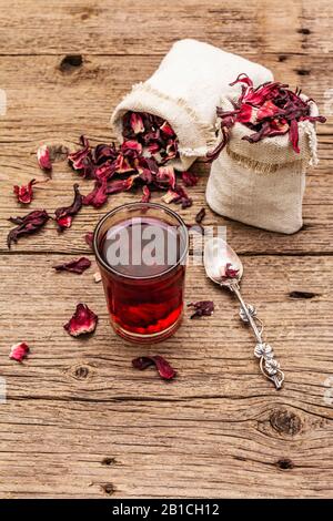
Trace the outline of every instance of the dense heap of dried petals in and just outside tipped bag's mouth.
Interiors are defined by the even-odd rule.
[[[176,183],[174,168],[167,165],[179,155],[170,124],[152,114],[128,112],[123,118],[123,136],[119,147],[114,143],[91,147],[87,137],[81,136],[82,147],[69,154],[71,167],[82,177],[94,180],[94,187],[83,197],[83,204],[99,208],[109,195],[141,186],[142,202],[150,200],[151,191],[167,191],[165,203],[174,202],[183,208],[191,206],[192,200]],[[183,172],[182,182],[184,186],[193,186],[198,177]]]

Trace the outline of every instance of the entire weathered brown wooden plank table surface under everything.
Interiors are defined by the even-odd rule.
[[[0,406],[1,498],[243,498],[333,496],[332,166],[333,7],[331,0],[0,1]],[[93,269],[81,277],[52,265],[92,256],[83,235],[122,202],[87,208],[71,229],[54,226],[7,249],[10,215],[24,214],[12,185],[43,174],[42,142],[71,147],[81,133],[110,141],[109,118],[132,83],[144,80],[179,38],[198,38],[271,68],[311,93],[329,122],[319,126],[321,163],[311,170],[304,226],[269,233],[208,212],[228,226],[245,266],[243,292],[259,306],[286,372],[276,392],[258,371],[253,339],[232,298],[202,267],[189,269],[186,300],[210,299],[214,316],[185,317],[160,353],[179,371],[165,384],[139,372],[142,348],[111,331]],[[60,67],[68,54],[81,65]],[[205,204],[208,167],[186,222]],[[31,208],[71,202],[74,175],[62,162]],[[81,182],[82,191],[89,191]],[[62,325],[78,300],[100,316],[95,335],[73,339]],[[8,359],[26,339],[29,359]]]

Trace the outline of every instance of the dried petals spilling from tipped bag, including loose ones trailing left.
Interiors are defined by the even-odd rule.
[[[83,196],[79,185],[74,184],[72,204],[56,210],[54,221],[60,232],[71,226],[82,205],[99,208],[107,203],[109,195],[138,185],[142,188],[141,201],[144,203],[149,202],[152,191],[165,191],[162,197],[165,203],[173,202],[182,208],[192,205],[184,187],[176,183],[174,168],[167,165],[168,161],[179,156],[176,135],[170,124],[153,114],[128,112],[123,118],[123,136],[125,141],[119,147],[114,143],[91,147],[82,135],[82,147],[68,154],[71,167],[82,177],[94,180],[94,186]],[[39,147],[37,159],[39,166],[50,173],[52,163],[47,145]],[[183,172],[181,177],[184,186],[194,186],[198,182],[196,175],[190,172]],[[32,201],[34,184],[37,182],[31,180],[27,186],[13,187],[20,203],[29,204]],[[21,235],[38,232],[49,218],[47,212],[41,210],[24,217],[10,217],[9,221],[19,226],[9,232],[8,246]]]

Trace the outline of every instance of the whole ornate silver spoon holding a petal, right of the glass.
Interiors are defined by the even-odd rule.
[[[230,289],[238,297],[241,308],[240,318],[252,327],[256,339],[254,356],[260,360],[262,374],[272,380],[276,389],[281,389],[284,374],[280,364],[274,358],[274,353],[269,344],[262,339],[263,325],[256,317],[256,309],[251,304],[245,304],[240,290],[240,282],[243,275],[243,265],[236,253],[221,237],[213,237],[204,245],[204,267],[209,278],[213,283]]]

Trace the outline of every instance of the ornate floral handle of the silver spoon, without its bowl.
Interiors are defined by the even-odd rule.
[[[251,304],[245,304],[241,295],[240,286],[238,283],[230,284],[230,289],[238,297],[241,308],[240,317],[252,327],[254,336],[256,338],[256,346],[254,348],[254,356],[259,358],[261,372],[269,379],[272,380],[276,389],[281,389],[284,381],[284,374],[280,369],[279,361],[274,358],[273,348],[265,344],[262,339],[263,325],[262,321],[256,317],[256,309]]]

